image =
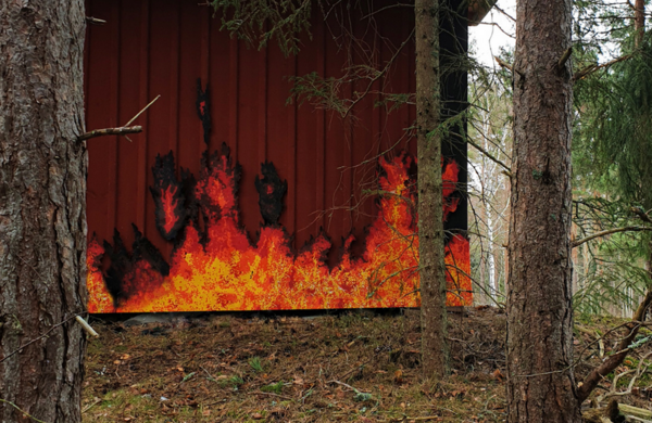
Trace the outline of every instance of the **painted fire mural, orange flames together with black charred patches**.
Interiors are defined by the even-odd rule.
[[[198,102],[205,119],[204,102]],[[208,125],[210,130],[210,123]],[[204,130],[206,125],[204,120]],[[208,138],[206,138],[208,139]],[[115,231],[113,243],[88,245],[87,285],[90,312],[288,310],[418,307],[418,236],[416,234],[415,159],[401,154],[380,158],[379,213],[368,228],[364,253],[352,257],[353,235],[344,240],[339,264],[327,265],[331,243],[325,233],[299,252],[278,225],[287,182],[272,163],[256,177],[264,220],[252,243],[240,225],[238,184],[240,167],[229,150],[201,161],[197,179],[181,169],[175,176],[172,152],[158,156],[151,193],[156,228],[174,242],[168,259],[134,226],[129,253]],[[442,163],[444,219],[457,208],[457,166]],[[200,221],[201,220],[201,221]],[[110,266],[102,267],[108,256]],[[471,305],[468,241],[451,235],[446,245],[448,305]]]

